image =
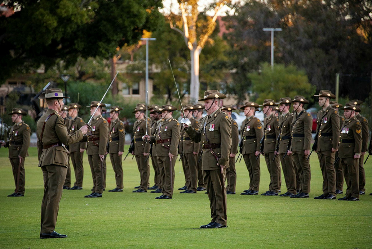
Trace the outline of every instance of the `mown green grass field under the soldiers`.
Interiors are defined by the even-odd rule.
[[[84,156],[83,190],[63,190],[56,231],[66,239],[39,239],[43,195],[36,148],[26,158],[24,197],[6,197],[14,190],[7,149],[0,149],[0,247],[1,248],[371,248],[372,159],[365,165],[366,195],[360,201],[314,200],[321,194],[321,171],[316,154],[311,156],[311,193],[308,199],[279,196],[243,196],[248,171],[237,164],[237,195],[227,196],[228,227],[201,229],[210,222],[208,196],[179,194],[173,199],[154,199],[156,193],[132,193],[139,185],[135,160],[123,164],[124,192],[103,192],[103,198],[84,198],[93,185]],[[115,187],[107,160],[106,189]],[[174,187],[184,185],[177,160]],[[153,185],[151,168],[150,185]],[[74,182],[72,171],[71,182]],[[261,157],[260,193],[267,190],[269,174]],[[285,192],[282,176],[282,191]],[[344,185],[346,190],[346,185]],[[282,193],[284,193],[282,192]],[[343,197],[344,195],[339,195]]]

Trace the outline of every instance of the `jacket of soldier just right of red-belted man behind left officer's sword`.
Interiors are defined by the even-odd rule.
[[[118,153],[124,151],[125,144],[125,130],[124,123],[120,119],[116,119],[110,124],[110,136],[109,136],[109,153]]]

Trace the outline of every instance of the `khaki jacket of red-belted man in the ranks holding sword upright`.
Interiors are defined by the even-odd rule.
[[[158,126],[159,127],[159,126]],[[150,142],[156,146],[157,157],[168,157],[168,153],[177,155],[181,126],[177,120],[170,117],[160,123],[156,134],[151,137]],[[168,142],[157,143],[156,141],[170,139]],[[154,146],[154,145],[153,145]]]

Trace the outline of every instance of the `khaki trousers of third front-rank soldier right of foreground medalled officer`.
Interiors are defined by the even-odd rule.
[[[275,157],[275,160],[273,161],[274,157],[275,157],[274,152],[265,153],[267,170],[269,171],[270,174],[269,191],[278,193],[282,185],[281,179],[282,173],[280,172],[280,159],[278,157]]]

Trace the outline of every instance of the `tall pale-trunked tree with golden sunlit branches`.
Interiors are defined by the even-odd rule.
[[[214,13],[212,17],[208,16],[206,20],[198,19],[200,14],[198,2],[198,0],[178,0],[179,12],[171,13],[168,18],[171,29],[182,35],[187,48],[190,50],[191,103],[195,103],[199,98],[199,55],[215,29],[219,11],[226,2],[230,1],[218,0],[211,4],[211,7],[214,7]],[[206,10],[208,8],[205,9],[205,12]]]

